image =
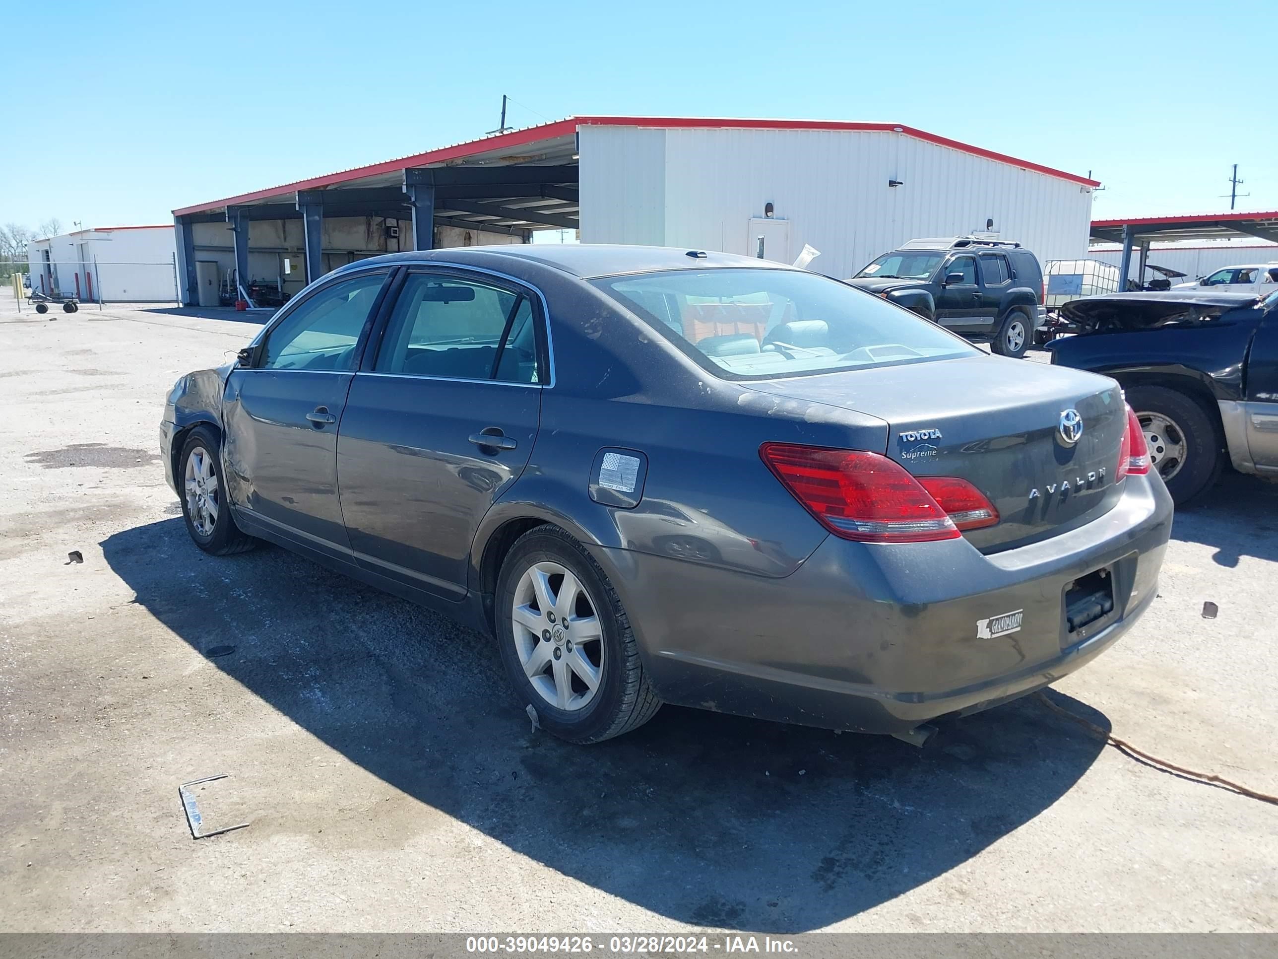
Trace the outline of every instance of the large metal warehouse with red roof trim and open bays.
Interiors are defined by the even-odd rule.
[[[1082,257],[1099,184],[886,123],[574,116],[174,211],[183,302],[263,306],[362,257],[573,229],[851,276],[919,237]],[[762,239],[760,239],[762,238]]]

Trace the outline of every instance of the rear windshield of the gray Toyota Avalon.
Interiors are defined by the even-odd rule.
[[[672,270],[593,280],[726,380],[979,355],[887,300],[797,270]]]

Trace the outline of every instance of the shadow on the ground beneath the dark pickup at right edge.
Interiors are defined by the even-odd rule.
[[[1231,569],[1242,556],[1278,563],[1278,482],[1226,469],[1215,486],[1176,509],[1172,538],[1213,547],[1212,559]]]

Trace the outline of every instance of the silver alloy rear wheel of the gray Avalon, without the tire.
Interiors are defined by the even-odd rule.
[[[603,679],[598,606],[566,566],[543,560],[519,578],[511,609],[515,652],[537,694],[569,712],[585,708]]]

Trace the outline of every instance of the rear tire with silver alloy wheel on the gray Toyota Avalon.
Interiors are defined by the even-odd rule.
[[[547,731],[570,743],[599,743],[638,729],[661,708],[621,598],[564,529],[542,526],[515,541],[497,577],[495,610],[506,675]],[[565,610],[579,632],[564,629]]]

